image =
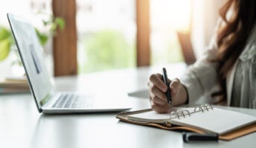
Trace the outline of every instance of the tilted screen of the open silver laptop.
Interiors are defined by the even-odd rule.
[[[36,100],[39,112],[41,106],[51,97],[54,87],[44,64],[43,50],[34,27],[18,16],[7,14],[22,64]]]

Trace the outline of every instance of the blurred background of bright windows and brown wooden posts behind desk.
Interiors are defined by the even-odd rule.
[[[224,0],[2,1],[0,77],[24,73],[16,65],[16,61],[19,61],[16,47],[12,44],[7,46],[3,42],[1,32],[4,29],[10,30],[6,13],[28,17],[36,30],[45,33],[47,41],[42,46],[51,75],[79,75],[158,64],[192,64],[202,55],[214,34],[218,9],[223,2]],[[64,28],[57,28],[57,33],[48,33],[48,26],[44,23],[52,16],[64,21],[57,21],[56,24]]]

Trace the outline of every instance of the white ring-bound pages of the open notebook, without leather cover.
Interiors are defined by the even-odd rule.
[[[154,111],[143,112],[128,115],[127,118],[133,121],[192,127],[219,135],[256,123],[255,116],[213,108],[211,105],[195,108],[173,108],[170,114],[159,114]]]

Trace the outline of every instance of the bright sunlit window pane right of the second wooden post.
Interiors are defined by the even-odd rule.
[[[188,32],[191,1],[150,1],[151,64],[184,61],[177,31]]]

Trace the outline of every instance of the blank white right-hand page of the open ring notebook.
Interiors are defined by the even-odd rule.
[[[188,127],[199,127],[200,129],[216,132],[220,135],[252,124],[255,121],[256,117],[252,115],[218,108],[204,112],[196,112],[189,117],[174,118],[172,120],[173,123]]]

